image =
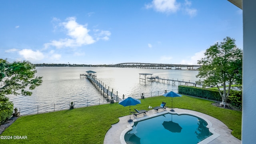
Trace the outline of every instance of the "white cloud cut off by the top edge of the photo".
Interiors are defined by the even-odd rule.
[[[180,8],[176,0],[153,0],[151,4],[146,4],[146,8],[153,8],[157,12],[174,13]]]

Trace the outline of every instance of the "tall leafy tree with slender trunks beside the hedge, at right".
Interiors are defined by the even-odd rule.
[[[230,94],[231,84],[242,84],[242,50],[237,48],[233,38],[226,37],[220,44],[217,42],[204,52],[205,57],[198,60],[202,65],[198,69],[198,84],[217,86],[222,102],[226,102]],[[223,85],[223,91],[219,84]],[[228,87],[226,86],[228,85]]]

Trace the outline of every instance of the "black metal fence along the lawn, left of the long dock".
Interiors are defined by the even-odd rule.
[[[87,106],[94,106],[94,105],[100,105],[100,104],[107,104],[106,100],[98,99],[88,99],[88,100],[82,100],[82,101],[74,101],[73,105],[74,108],[82,108]],[[70,102],[62,102],[58,104],[47,104],[42,106],[27,106],[19,108],[20,116],[29,115],[29,114],[40,114],[40,113],[46,113],[46,112],[55,112],[59,110],[67,110],[70,109]]]

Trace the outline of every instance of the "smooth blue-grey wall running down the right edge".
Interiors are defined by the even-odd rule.
[[[243,0],[242,144],[256,142],[256,0]]]

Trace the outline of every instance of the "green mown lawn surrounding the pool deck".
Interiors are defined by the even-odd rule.
[[[149,105],[159,106],[166,102],[171,106],[171,98],[158,96],[145,98],[141,104],[131,106],[146,109]],[[173,98],[174,108],[195,110],[213,116],[233,130],[232,134],[241,139],[242,112],[212,106],[212,101],[190,96]],[[129,106],[118,103],[76,108],[21,116],[1,136],[27,136],[25,140],[0,140],[0,143],[16,144],[103,144],[104,137],[111,124],[118,122],[118,117],[129,114]]]

